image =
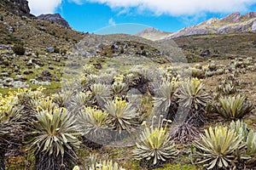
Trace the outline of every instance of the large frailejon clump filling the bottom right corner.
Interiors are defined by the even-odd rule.
[[[201,140],[195,141],[195,162],[207,169],[237,168],[238,164],[255,166],[256,133],[242,121],[228,127],[209,127]]]

